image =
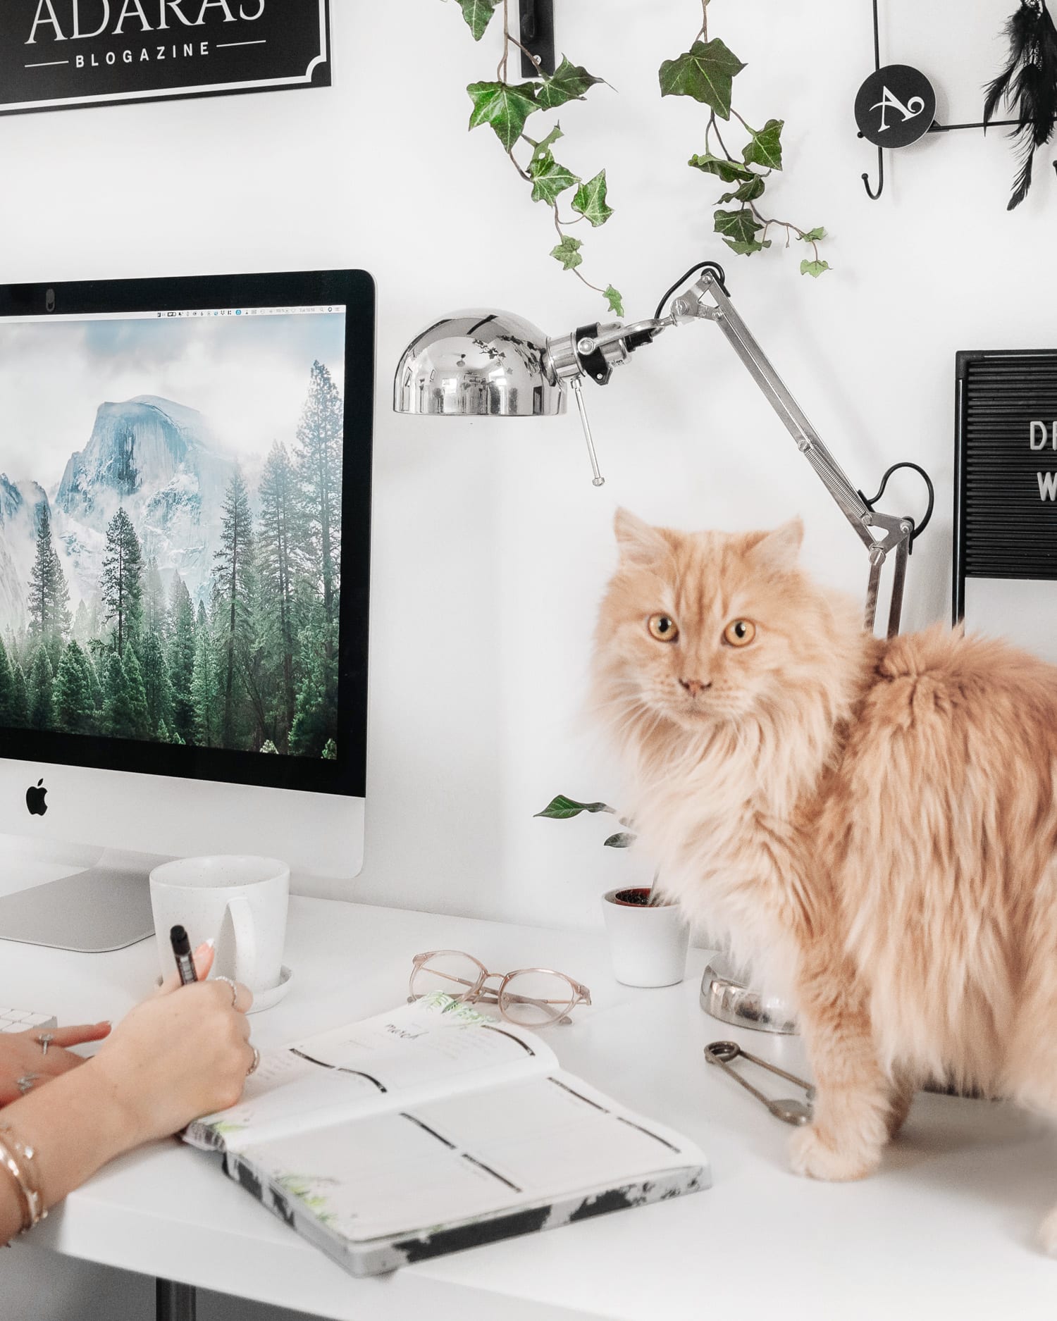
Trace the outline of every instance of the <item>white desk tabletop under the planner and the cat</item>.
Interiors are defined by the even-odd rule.
[[[601,933],[293,900],[293,987],[254,1018],[255,1038],[279,1045],[390,1008],[406,993],[411,955],[443,947],[495,970],[558,967],[591,987],[593,1007],[550,1033],[562,1063],[695,1137],[715,1186],[355,1280],[225,1178],[215,1157],[169,1141],[100,1173],[34,1242],[344,1321],[1057,1314],[1057,1262],[1032,1246],[1057,1201],[1049,1131],[1002,1107],[920,1096],[879,1176],[851,1185],[794,1177],[791,1129],[704,1062],[706,1042],[732,1029],[698,1007],[699,951],[682,985],[634,991],[613,980]],[[116,1020],[156,971],[153,942],[115,955],[5,943],[0,1003],[53,1009],[59,1021]],[[803,1069],[793,1038],[733,1036]]]

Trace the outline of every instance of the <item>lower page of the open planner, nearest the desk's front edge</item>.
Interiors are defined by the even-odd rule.
[[[358,1242],[706,1164],[687,1139],[556,1070],[251,1144],[242,1159]]]

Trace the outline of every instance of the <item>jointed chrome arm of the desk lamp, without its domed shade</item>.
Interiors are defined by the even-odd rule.
[[[873,631],[877,618],[881,569],[888,556],[892,552],[896,553],[888,616],[888,637],[894,637],[900,631],[902,618],[906,557],[914,534],[913,520],[876,513],[852,486],[844,470],[809,421],[807,415],[774,370],[774,365],[741,320],[720,277],[713,271],[706,271],[686,293],[673,300],[671,312],[666,317],[636,321],[628,326],[600,328],[595,334],[579,339],[576,336],[550,339],[547,350],[551,367],[563,383],[579,384],[587,374],[583,366],[584,358],[597,362],[601,357],[606,359],[608,369],[612,369],[612,366],[625,362],[629,353],[655,339],[662,330],[675,325],[688,325],[694,321],[712,321],[719,326],[764,398],[778,415],[785,429],[797,443],[797,448],[851,524],[855,535],[865,546],[869,553],[865,627],[869,633]],[[575,351],[571,351],[573,349]],[[604,375],[597,373],[593,375],[600,384],[605,384],[609,379],[609,370]],[[876,528],[879,535],[875,536],[871,528]]]

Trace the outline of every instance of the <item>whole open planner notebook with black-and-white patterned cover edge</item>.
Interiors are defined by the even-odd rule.
[[[184,1137],[354,1275],[710,1184],[692,1143],[445,995],[264,1054]]]

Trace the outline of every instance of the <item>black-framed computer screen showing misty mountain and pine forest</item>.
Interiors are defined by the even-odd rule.
[[[365,280],[0,291],[5,756],[363,794]]]

